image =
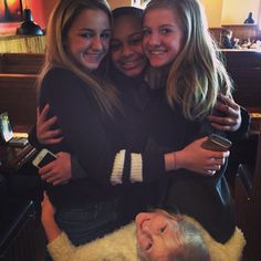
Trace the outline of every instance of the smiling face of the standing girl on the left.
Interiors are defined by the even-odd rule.
[[[92,71],[106,55],[109,38],[107,14],[102,10],[85,9],[69,29],[66,50],[75,62]]]

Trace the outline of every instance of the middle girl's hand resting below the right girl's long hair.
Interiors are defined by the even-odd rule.
[[[236,132],[239,129],[242,122],[241,111],[232,96],[219,94],[215,109],[225,114],[225,116],[208,116],[208,119],[215,128],[223,132]]]

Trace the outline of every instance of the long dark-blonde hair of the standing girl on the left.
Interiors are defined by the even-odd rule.
[[[52,67],[69,69],[88,85],[102,111],[113,115],[113,108],[117,106],[115,90],[112,85],[97,81],[95,76],[86,72],[86,69],[75,64],[65,48],[70,27],[75,18],[86,9],[104,11],[112,24],[112,14],[106,0],[60,0],[51,13],[46,29],[45,63],[39,77],[39,86]]]

